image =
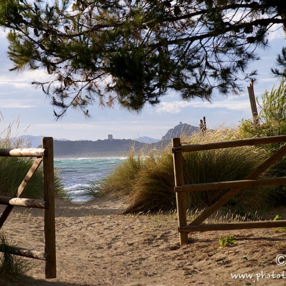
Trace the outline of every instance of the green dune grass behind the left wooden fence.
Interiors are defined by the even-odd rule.
[[[21,148],[23,142],[21,140],[12,141],[11,124],[0,136],[0,148],[13,149]],[[34,160],[26,157],[0,157],[0,195],[15,196],[17,189],[27,172],[32,166]],[[59,172],[55,170],[54,176],[55,195],[59,199],[68,200],[68,194],[65,192],[59,177]],[[24,197],[40,199],[43,197],[43,169],[40,167],[29,181]]]

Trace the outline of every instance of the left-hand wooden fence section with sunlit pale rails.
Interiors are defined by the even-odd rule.
[[[7,205],[0,217],[0,229],[14,206],[44,209],[44,252],[33,249],[10,246],[12,254],[46,261],[46,278],[56,277],[56,238],[55,238],[55,197],[53,138],[43,138],[43,148],[38,149],[0,149],[0,157],[37,157],[27,175],[20,184],[15,197],[0,196],[0,204]],[[21,198],[29,180],[43,162],[43,200]],[[0,251],[3,252],[0,244]]]

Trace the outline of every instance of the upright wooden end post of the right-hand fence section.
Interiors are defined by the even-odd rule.
[[[180,138],[172,138],[172,146],[181,146]],[[174,175],[175,175],[175,187],[184,185],[183,176],[183,166],[182,166],[182,154],[173,153],[173,164],[174,164]],[[186,202],[185,193],[176,192],[177,201],[177,215],[178,215],[178,225],[179,228],[187,225],[187,215],[186,215]],[[180,245],[188,242],[188,233],[179,232]]]

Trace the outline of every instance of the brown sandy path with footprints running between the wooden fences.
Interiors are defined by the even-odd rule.
[[[118,214],[122,209],[121,201],[56,201],[57,278],[45,279],[45,262],[28,259],[27,277],[0,278],[0,285],[286,284],[286,266],[275,262],[286,254],[281,229],[196,232],[180,246],[175,215]],[[286,218],[285,209],[270,217],[276,213]],[[42,210],[14,208],[2,230],[14,245],[44,250]],[[237,242],[220,249],[227,235]]]

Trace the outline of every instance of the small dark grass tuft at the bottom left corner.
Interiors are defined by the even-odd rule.
[[[30,262],[20,256],[11,253],[9,246],[11,241],[8,241],[6,236],[0,234],[0,276],[9,277],[15,275],[25,275],[30,270]]]

